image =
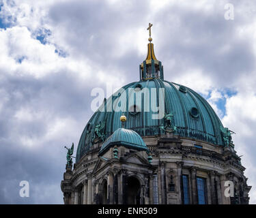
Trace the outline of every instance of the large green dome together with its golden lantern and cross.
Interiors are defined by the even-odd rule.
[[[122,126],[120,122],[122,114],[127,119],[126,129],[132,129],[142,137],[160,136],[171,130],[173,134],[184,138],[221,146],[228,143],[229,130],[223,127],[210,104],[201,95],[188,87],[164,80],[163,66],[154,54],[151,33],[149,41],[147,57],[139,65],[140,80],[125,85],[109,99],[105,99],[102,106],[91,116],[79,140],[76,162],[89,151],[91,146],[104,142]],[[133,93],[130,92],[131,89],[134,90]],[[165,116],[161,119],[153,119],[156,110],[152,110],[150,106],[154,101],[160,102],[160,96],[163,96],[160,95],[162,90]],[[135,99],[137,94],[140,97]],[[130,100],[131,95],[136,96]],[[119,105],[118,99],[126,103]],[[121,110],[113,110],[113,108],[121,108]]]

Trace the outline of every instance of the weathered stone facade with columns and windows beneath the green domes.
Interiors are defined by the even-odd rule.
[[[233,146],[171,133],[143,140],[151,163],[145,151],[122,145],[115,146],[118,157],[114,147],[99,157],[102,143],[94,144],[73,169],[67,166],[61,181],[64,204],[199,204],[202,193],[205,204],[248,204],[251,186]],[[226,181],[233,184],[233,197],[225,196]]]

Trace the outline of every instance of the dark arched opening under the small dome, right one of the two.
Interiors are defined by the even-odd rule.
[[[141,203],[141,184],[139,180],[133,176],[127,178],[127,204],[140,204]]]

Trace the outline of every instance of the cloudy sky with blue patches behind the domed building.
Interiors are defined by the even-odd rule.
[[[0,0],[0,204],[63,203],[63,146],[93,114],[91,89],[139,79],[149,22],[165,79],[199,92],[236,132],[256,204],[255,12],[251,0]]]

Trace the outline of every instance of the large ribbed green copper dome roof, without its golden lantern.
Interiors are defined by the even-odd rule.
[[[109,104],[112,104],[111,100],[114,104],[115,99],[122,97],[124,92],[127,94],[124,96],[128,96],[129,88],[136,88],[137,91],[148,88],[150,92],[152,92],[150,88],[155,88],[156,93],[160,88],[165,89],[165,113],[173,114],[174,134],[224,145],[221,135],[223,125],[210,104],[192,89],[174,82],[158,78],[132,82],[117,91],[119,95],[117,93],[111,95],[99,109],[106,109]],[[156,95],[156,98],[158,98],[158,95]],[[143,105],[143,102],[142,95],[141,105]],[[149,112],[145,112],[143,108],[141,108],[141,112],[128,112],[128,100],[126,106],[127,110],[124,112],[127,117],[126,129],[132,129],[140,136],[158,136],[161,134],[161,126],[165,125],[165,119],[152,119],[152,114],[155,114],[155,112],[152,112],[151,109]],[[134,105],[134,108],[136,107]],[[94,143],[104,142],[116,129],[122,127],[119,119],[123,112],[106,112],[106,110],[101,112],[100,110],[91,116],[83,130],[76,152],[76,162],[89,151]]]

